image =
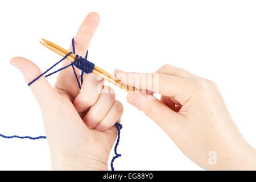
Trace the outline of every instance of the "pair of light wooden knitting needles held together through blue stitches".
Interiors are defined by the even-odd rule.
[[[66,49],[64,49],[60,46],[57,46],[55,43],[52,43],[49,40],[46,40],[46,39],[42,39],[42,40],[43,40],[43,42],[40,42],[40,44],[42,44],[44,47],[50,49],[51,51],[57,53],[60,56],[64,57],[70,52],[70,51],[67,51]],[[71,55],[69,55],[67,57],[67,59],[69,61],[73,62],[76,59],[76,55],[74,53],[71,53]],[[103,69],[97,67],[96,65],[94,65],[94,69],[93,69],[92,73],[94,73],[97,76],[100,76],[104,80],[109,81],[110,83],[118,86],[119,88],[121,88],[121,89],[123,89],[127,92],[138,90],[137,88],[135,88],[133,86],[129,86],[129,85],[124,84],[117,77],[115,77],[114,75],[111,75],[110,73],[104,71]]]

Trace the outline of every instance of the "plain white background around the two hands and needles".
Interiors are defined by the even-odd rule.
[[[154,72],[163,64],[217,83],[236,125],[256,147],[255,1],[1,1],[0,133],[44,135],[34,96],[9,64],[26,57],[42,71],[60,59],[39,44],[46,38],[68,48],[90,11],[101,22],[88,59],[108,72]],[[48,80],[53,84],[56,75]],[[141,111],[126,102],[115,169],[199,169]],[[46,140],[0,138],[0,169],[51,169]],[[113,151],[110,158],[113,156]]]

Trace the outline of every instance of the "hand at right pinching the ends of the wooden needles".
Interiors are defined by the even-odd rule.
[[[134,92],[127,101],[193,162],[205,169],[256,169],[256,152],[237,129],[214,82],[171,65],[156,73],[114,74],[130,86],[162,95],[157,100],[152,92]]]

